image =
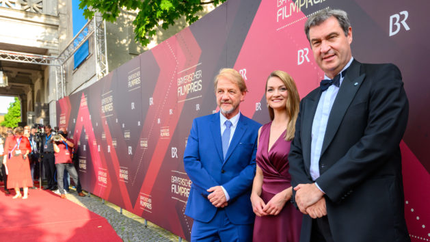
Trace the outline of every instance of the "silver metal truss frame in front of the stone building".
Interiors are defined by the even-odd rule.
[[[57,83],[57,100],[64,98],[66,93],[66,64],[76,51],[94,35],[94,53],[96,56],[96,77],[97,80],[107,75],[107,44],[106,44],[106,21],[103,21],[99,13],[88,21],[76,34],[66,48],[57,56],[36,55],[31,53],[21,53],[16,51],[0,50],[0,60],[8,62],[21,62],[25,64],[39,64],[53,66]]]

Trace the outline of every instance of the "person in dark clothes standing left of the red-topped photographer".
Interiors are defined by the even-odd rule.
[[[42,135],[42,145],[40,146],[40,157],[42,158],[42,163],[45,168],[46,180],[48,181],[48,186],[44,190],[50,189],[55,191],[57,185],[55,184],[55,157],[54,157],[54,147],[53,147],[53,133],[51,125],[46,124],[44,126],[45,134]]]

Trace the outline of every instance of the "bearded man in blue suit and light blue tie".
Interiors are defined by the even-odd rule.
[[[218,113],[193,120],[185,171],[193,182],[185,215],[194,219],[191,241],[251,241],[250,202],[260,124],[243,116],[247,92],[233,69],[215,77]]]

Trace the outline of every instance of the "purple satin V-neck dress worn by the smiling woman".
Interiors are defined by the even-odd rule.
[[[268,151],[270,126],[271,122],[261,128],[256,155],[257,165],[263,171],[261,198],[266,204],[276,193],[291,187],[291,176],[288,173],[291,141],[285,141],[284,131]],[[276,216],[256,216],[253,241],[299,241],[302,216],[289,201]]]

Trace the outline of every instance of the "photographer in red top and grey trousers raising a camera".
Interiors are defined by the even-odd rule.
[[[75,146],[72,139],[67,139],[66,128],[60,128],[58,135],[53,137],[53,148],[55,151],[55,166],[57,167],[58,189],[61,198],[66,198],[64,193],[63,175],[64,170],[67,170],[73,181],[75,182],[78,195],[84,197],[81,186],[79,185],[78,173],[72,163],[72,148]]]

